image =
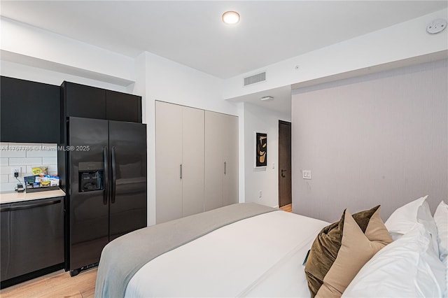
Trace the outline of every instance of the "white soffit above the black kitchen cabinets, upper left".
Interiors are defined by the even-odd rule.
[[[1,59],[123,86],[134,80],[134,59],[0,17]]]

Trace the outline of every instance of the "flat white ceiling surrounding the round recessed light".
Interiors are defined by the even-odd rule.
[[[230,78],[446,8],[448,1],[5,1],[1,15]],[[241,22],[221,22],[237,10]]]

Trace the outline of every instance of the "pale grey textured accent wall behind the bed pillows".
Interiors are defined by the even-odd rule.
[[[448,201],[448,60],[293,90],[293,212]],[[302,171],[311,171],[311,180]]]

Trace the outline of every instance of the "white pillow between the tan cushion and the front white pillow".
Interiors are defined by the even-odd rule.
[[[384,225],[386,225],[392,239],[396,240],[409,232],[417,223],[423,224],[430,233],[433,249],[438,255],[437,226],[426,201],[427,198],[428,196],[421,197],[393,211]]]

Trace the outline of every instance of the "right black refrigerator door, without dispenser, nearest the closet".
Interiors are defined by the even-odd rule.
[[[110,241],[146,227],[146,125],[109,121]]]

